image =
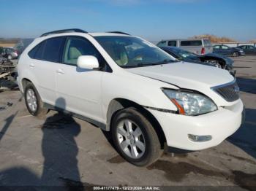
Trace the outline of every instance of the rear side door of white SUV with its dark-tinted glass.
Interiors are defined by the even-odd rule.
[[[54,105],[56,100],[56,69],[60,62],[64,37],[54,37],[39,43],[29,52],[29,70],[42,101]]]

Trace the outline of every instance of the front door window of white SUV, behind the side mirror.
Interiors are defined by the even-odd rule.
[[[69,63],[77,65],[78,57],[80,55],[94,55],[100,66],[105,66],[105,60],[102,55],[94,47],[89,40],[80,37],[68,37],[65,47],[62,61],[63,63]],[[104,62],[104,63],[103,63]]]

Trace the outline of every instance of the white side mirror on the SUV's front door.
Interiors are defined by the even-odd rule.
[[[78,67],[80,69],[97,69],[99,68],[99,61],[93,55],[80,55],[78,57]]]

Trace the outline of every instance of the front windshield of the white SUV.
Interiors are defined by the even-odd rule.
[[[96,36],[95,39],[108,52],[118,66],[133,68],[176,61],[154,44],[132,36]]]

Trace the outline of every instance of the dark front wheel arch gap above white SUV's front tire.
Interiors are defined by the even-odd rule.
[[[148,112],[147,109],[145,109],[143,106],[136,103],[135,101],[131,101],[125,98],[114,98],[112,101],[110,101],[110,104],[108,106],[108,112],[107,112],[106,130],[110,130],[111,124],[113,122],[113,117],[115,117],[116,113],[121,109],[125,109],[128,107],[134,107],[141,114],[143,114],[149,122],[151,122],[154,130],[156,130],[157,132],[157,136],[159,137],[159,140],[161,142],[161,147],[163,148],[166,142],[166,138],[161,125],[159,124],[156,117],[154,117],[154,115],[151,114],[151,112]]]

